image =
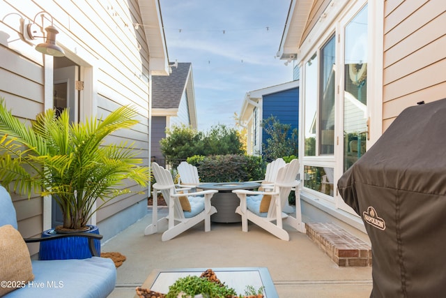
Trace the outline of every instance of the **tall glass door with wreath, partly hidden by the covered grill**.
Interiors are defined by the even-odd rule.
[[[369,140],[369,111],[367,106],[368,62],[367,4],[341,25],[342,77],[341,105],[343,114],[342,173],[348,170],[367,151]],[[337,207],[355,214],[353,209],[337,198]]]

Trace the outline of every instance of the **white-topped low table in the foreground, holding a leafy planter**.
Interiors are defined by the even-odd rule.
[[[155,269],[147,277],[141,288],[151,289],[155,292],[169,292],[169,285],[175,283],[178,278],[185,276],[200,276],[208,268],[185,268],[185,269]],[[238,294],[243,294],[247,285],[252,285],[258,290],[263,290],[265,298],[277,298],[276,288],[272,282],[270,272],[266,267],[232,267],[212,268],[222,283],[233,288]],[[135,295],[135,298],[137,296]]]

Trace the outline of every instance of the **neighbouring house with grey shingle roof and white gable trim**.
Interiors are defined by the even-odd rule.
[[[175,63],[170,75],[153,75],[152,90],[151,157],[165,166],[160,140],[166,137],[166,128],[184,124],[197,129],[192,64]]]

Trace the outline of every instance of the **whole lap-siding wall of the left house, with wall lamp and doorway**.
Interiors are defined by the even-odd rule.
[[[141,23],[138,1],[0,0],[0,96],[6,98],[8,109],[23,120],[35,119],[36,114],[52,106],[53,57],[36,52],[20,30],[21,17],[33,20],[42,10],[54,17],[54,26],[59,29],[57,41],[66,57],[84,70],[86,89],[80,92],[84,106],[79,112],[81,119],[89,114],[106,116],[119,105],[134,105],[139,112],[139,124],[130,131],[118,131],[109,141],[135,142],[141,149],[139,157],[148,165],[149,53],[144,28],[132,26]],[[41,24],[40,15],[36,23]],[[45,21],[44,27],[48,25]],[[36,40],[41,42],[41,38]],[[130,183],[127,187],[140,190]],[[105,223],[107,218],[146,198],[147,191],[118,198],[98,211],[96,223]],[[28,201],[18,195],[13,195],[13,200],[22,235],[40,234],[45,225],[43,200],[34,196]],[[137,219],[132,216],[130,221]],[[30,249],[35,253],[37,248]]]

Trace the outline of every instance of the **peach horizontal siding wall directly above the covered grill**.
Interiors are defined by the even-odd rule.
[[[383,130],[406,107],[446,97],[446,1],[385,1]]]

